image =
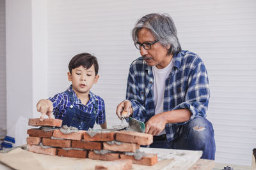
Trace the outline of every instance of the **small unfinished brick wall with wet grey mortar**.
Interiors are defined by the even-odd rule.
[[[61,127],[61,120],[46,118],[29,119],[31,126]],[[99,131],[90,135],[89,131],[63,134],[60,129],[29,129],[28,150],[61,157],[89,158],[97,160],[130,159],[134,164],[152,166],[157,163],[157,155],[145,153],[138,157],[140,145],[153,142],[151,134],[130,131]],[[101,154],[100,154],[101,153]],[[136,158],[135,158],[136,157]]]

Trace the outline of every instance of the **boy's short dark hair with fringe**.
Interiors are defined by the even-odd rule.
[[[92,67],[94,64],[95,75],[98,74],[99,64],[95,56],[90,53],[79,53],[75,55],[68,64],[69,72],[72,73],[72,69],[75,69],[80,66],[84,66],[86,69]]]

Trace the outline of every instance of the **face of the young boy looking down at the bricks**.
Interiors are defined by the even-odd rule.
[[[89,94],[94,83],[97,83],[99,75],[95,75],[94,64],[86,69],[83,66],[72,69],[72,73],[68,71],[68,81],[72,81],[72,87],[79,94]]]

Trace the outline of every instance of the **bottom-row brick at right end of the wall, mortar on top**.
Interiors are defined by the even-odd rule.
[[[131,155],[120,154],[121,159],[131,159],[133,164],[140,164],[144,166],[153,166],[157,163],[157,154],[147,153],[147,156],[142,157],[140,160],[135,159]]]

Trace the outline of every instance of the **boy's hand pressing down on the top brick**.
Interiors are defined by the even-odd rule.
[[[38,103],[36,104],[36,109],[38,112],[42,113],[40,120],[42,120],[45,115],[47,115],[49,118],[54,118],[51,114],[53,111],[53,106],[51,101],[45,100],[45,99],[38,101]]]

